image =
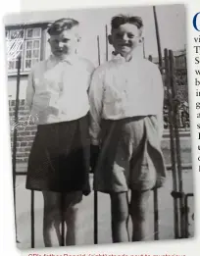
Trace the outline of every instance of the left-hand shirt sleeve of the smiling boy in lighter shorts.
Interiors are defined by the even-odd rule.
[[[100,123],[103,110],[103,77],[99,70],[95,70],[89,86],[89,104],[90,104],[90,128],[91,144],[99,144]]]

